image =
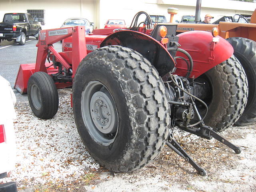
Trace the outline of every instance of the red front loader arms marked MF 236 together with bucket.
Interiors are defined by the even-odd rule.
[[[21,94],[26,93],[28,79],[32,74],[40,71],[53,75],[58,72],[60,73],[60,70],[64,68],[65,71],[72,74],[72,78],[74,78],[79,63],[87,55],[84,34],[84,26],[41,30],[38,43],[36,44],[36,47],[38,48],[36,64],[20,65],[14,88]],[[68,38],[69,36],[72,36],[73,51],[76,54],[72,54],[72,52],[69,51],[58,53],[54,49],[53,44]],[[56,66],[53,63],[46,64],[48,52],[50,52],[51,56],[54,56],[54,60],[59,62],[61,66]],[[72,82],[55,82],[55,84],[57,88],[72,86]]]

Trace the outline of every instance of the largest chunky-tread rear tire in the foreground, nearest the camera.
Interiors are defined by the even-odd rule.
[[[99,90],[108,90],[117,110],[118,123],[112,135],[99,132],[90,114],[93,94],[99,92],[91,92],[95,82]],[[73,110],[86,149],[114,172],[145,166],[160,154],[168,136],[169,105],[164,83],[154,66],[130,48],[106,46],[81,61],[73,83]]]

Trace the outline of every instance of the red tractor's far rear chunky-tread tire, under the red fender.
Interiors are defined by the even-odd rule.
[[[217,132],[232,126],[244,112],[247,102],[248,83],[240,62],[232,56],[199,78],[210,85],[205,124]]]

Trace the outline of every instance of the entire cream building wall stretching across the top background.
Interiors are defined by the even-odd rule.
[[[45,25],[43,29],[58,28],[67,18],[82,17],[95,23],[95,27],[103,28],[108,19],[124,19],[130,26],[134,15],[139,11],[148,14],[170,15],[168,7],[178,8],[174,16],[180,20],[182,15],[195,15],[196,0],[0,0],[0,20],[7,12],[27,12],[28,9],[44,9]],[[217,20],[222,15],[252,14],[256,3],[230,0],[202,0],[201,18],[212,14]],[[143,21],[142,18],[141,21]]]

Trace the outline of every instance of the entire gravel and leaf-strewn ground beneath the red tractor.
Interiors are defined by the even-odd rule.
[[[84,148],[70,107],[70,89],[58,90],[59,110],[50,120],[36,118],[26,95],[16,93],[16,169],[1,182],[16,181],[20,192],[256,191],[256,124],[221,134],[242,148],[234,152],[218,141],[175,130],[175,138],[208,172],[194,168],[167,146],[148,166],[129,173],[102,168]]]

